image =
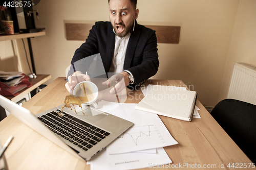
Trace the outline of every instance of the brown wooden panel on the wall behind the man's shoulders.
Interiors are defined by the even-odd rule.
[[[92,23],[66,23],[67,40],[86,41],[89,31],[94,24]],[[178,44],[180,39],[179,26],[145,26],[156,31],[158,43]]]

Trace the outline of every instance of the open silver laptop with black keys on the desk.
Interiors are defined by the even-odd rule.
[[[70,108],[60,112],[62,106],[58,106],[33,115],[2,95],[0,105],[36,132],[84,160],[90,160],[133,126],[125,119],[90,107],[76,114]]]

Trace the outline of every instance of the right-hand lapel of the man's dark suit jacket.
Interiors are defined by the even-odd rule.
[[[137,46],[140,34],[141,34],[141,31],[138,29],[138,23],[135,20],[135,29],[131,34],[131,37],[130,37],[128,45],[127,45],[126,54],[125,54],[125,59],[124,59],[124,64],[123,64],[124,70],[130,68],[130,66],[131,66],[134,51]]]

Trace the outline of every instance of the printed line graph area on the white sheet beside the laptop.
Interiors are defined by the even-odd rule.
[[[143,125],[134,126],[130,130],[123,132],[115,141],[115,146],[117,148],[129,148],[163,142],[164,139],[157,130],[156,125]]]

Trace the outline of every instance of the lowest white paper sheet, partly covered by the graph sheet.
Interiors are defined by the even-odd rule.
[[[137,169],[169,163],[172,163],[172,160],[170,160],[163,148],[157,148],[156,154],[132,152],[109,155],[106,150],[103,150],[90,161],[91,170]]]

